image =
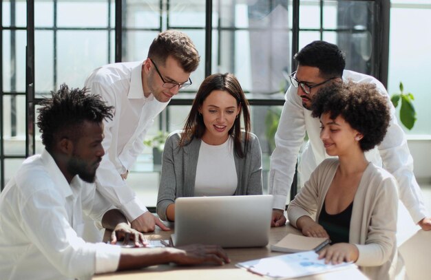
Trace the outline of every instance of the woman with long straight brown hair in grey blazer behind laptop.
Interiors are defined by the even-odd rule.
[[[176,197],[262,195],[262,151],[250,132],[248,106],[233,74],[205,78],[184,129],[171,133],[165,143],[160,219],[175,220]]]

